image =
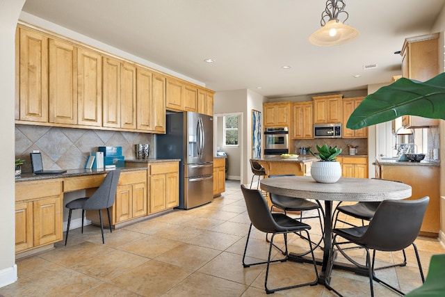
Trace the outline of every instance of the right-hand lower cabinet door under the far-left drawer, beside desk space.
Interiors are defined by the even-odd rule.
[[[34,246],[63,239],[62,198],[54,197],[33,202]]]

